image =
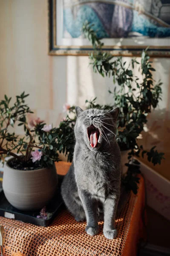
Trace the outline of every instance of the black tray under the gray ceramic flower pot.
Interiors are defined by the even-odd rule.
[[[13,207],[6,199],[3,189],[0,185],[0,216],[5,216],[6,213],[11,213],[11,218],[14,218],[18,221],[23,221],[31,223],[38,226],[47,227],[52,223],[56,215],[61,212],[63,208],[63,200],[61,197],[61,182],[63,180],[62,175],[58,175],[58,189],[54,197],[46,205],[46,212],[49,213],[47,219],[37,218],[37,215],[40,215],[40,210],[36,211],[21,211]]]

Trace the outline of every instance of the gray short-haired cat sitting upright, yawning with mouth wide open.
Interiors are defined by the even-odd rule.
[[[83,111],[76,107],[75,111],[74,159],[61,194],[75,220],[86,219],[87,234],[98,233],[98,219],[103,212],[104,236],[114,239],[121,183],[121,154],[115,138],[119,108]]]

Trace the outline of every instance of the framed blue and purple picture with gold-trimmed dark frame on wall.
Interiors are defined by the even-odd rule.
[[[104,51],[170,57],[170,0],[48,0],[49,54],[88,55],[92,45],[81,33],[94,24]]]

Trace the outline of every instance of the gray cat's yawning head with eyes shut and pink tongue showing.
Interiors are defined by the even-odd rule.
[[[115,140],[115,122],[119,114],[119,108],[112,111],[99,109],[83,111],[76,107],[75,111],[77,114],[75,137],[79,143],[85,143],[90,150],[94,151],[102,146],[109,146]]]

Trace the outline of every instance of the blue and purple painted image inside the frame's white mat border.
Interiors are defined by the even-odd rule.
[[[170,0],[63,0],[63,38],[81,37],[85,20],[99,38],[167,38]]]

